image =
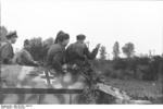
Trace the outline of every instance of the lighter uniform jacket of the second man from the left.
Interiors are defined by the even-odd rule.
[[[38,65],[34,61],[29,51],[27,51],[26,49],[22,49],[20,52],[17,52],[17,55],[14,57],[14,62],[21,65]]]

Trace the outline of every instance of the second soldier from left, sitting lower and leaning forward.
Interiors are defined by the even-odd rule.
[[[29,53],[28,49],[30,48],[29,40],[24,40],[24,48],[17,52],[17,55],[14,57],[14,62],[18,63],[21,65],[32,65],[32,66],[38,66],[38,62],[34,61],[34,58]]]

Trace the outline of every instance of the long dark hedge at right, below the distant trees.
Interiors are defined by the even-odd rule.
[[[163,58],[159,56],[152,59],[148,57],[134,57],[113,61],[96,61],[95,65],[108,77],[156,81],[159,80],[159,72],[162,72],[160,70],[161,60],[163,60]]]

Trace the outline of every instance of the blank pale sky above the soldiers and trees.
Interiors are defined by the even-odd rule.
[[[85,34],[90,49],[101,44],[110,57],[115,41],[121,48],[133,43],[136,55],[163,53],[163,1],[159,0],[1,0],[1,25],[17,32],[14,48],[18,49],[26,38],[55,37],[62,29],[71,43]]]

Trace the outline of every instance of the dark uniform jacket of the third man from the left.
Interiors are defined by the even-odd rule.
[[[58,72],[62,72],[62,65],[65,62],[65,47],[61,44],[54,44],[50,47],[47,55],[47,65]]]

